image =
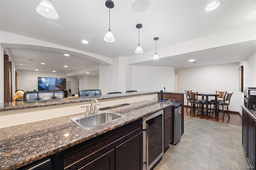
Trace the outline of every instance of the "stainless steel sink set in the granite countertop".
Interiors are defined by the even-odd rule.
[[[90,116],[80,115],[77,117],[72,117],[70,118],[70,120],[76,123],[81,128],[87,130],[125,117],[125,115],[121,115],[119,113],[104,112]]]

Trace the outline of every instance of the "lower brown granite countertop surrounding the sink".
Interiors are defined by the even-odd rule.
[[[84,113],[0,128],[0,169],[14,170],[30,164],[170,105],[172,104],[158,101],[139,101],[109,109],[108,111],[124,114],[126,117],[90,130],[78,127],[69,119]],[[106,111],[99,111],[101,112]]]

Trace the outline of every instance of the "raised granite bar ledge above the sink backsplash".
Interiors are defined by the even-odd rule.
[[[70,97],[70,98],[64,98],[64,99],[50,99],[50,100],[38,100],[38,101],[14,101],[14,102],[8,102],[8,103],[0,103],[0,112],[35,108],[35,107],[53,106],[53,105],[64,105],[69,103],[79,103],[79,102],[91,101],[91,99],[93,98],[96,98],[98,100],[104,100],[104,99],[114,99],[114,98],[129,97],[129,96],[147,95],[147,94],[153,94],[153,93],[160,93],[160,91],[143,91],[143,92],[134,92],[134,93],[120,93],[120,94],[112,94],[112,95],[87,96],[87,97]],[[185,92],[165,91],[163,93],[184,94]]]

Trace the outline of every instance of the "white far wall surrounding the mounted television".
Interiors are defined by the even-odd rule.
[[[18,74],[18,89],[21,90],[38,90],[38,77],[58,77],[58,78],[66,78],[66,90],[71,89],[73,94],[78,93],[77,89],[77,79],[73,79],[73,77],[66,77],[64,73],[47,73],[40,71],[27,71],[27,70],[17,70]]]

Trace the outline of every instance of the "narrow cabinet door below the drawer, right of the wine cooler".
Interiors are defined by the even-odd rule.
[[[164,118],[164,150],[172,142],[172,114]]]

